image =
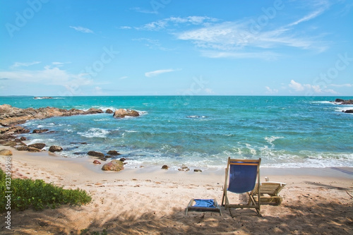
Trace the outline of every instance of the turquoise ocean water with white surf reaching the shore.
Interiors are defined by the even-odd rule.
[[[263,159],[262,167],[353,167],[352,105],[336,97],[140,96],[0,97],[13,107],[135,109],[140,116],[112,114],[32,120],[25,128],[53,133],[26,134],[26,143],[61,145],[66,157],[90,150],[117,150],[126,168],[223,169],[227,157]],[[353,97],[337,97],[345,100]],[[87,143],[87,144],[81,144]]]

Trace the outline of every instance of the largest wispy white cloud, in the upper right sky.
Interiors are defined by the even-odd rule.
[[[196,30],[188,30],[176,34],[179,40],[193,42],[202,49],[217,49],[223,52],[249,52],[279,47],[313,49],[318,52],[327,47],[317,38],[297,36],[289,28],[260,30],[253,28],[251,21],[224,22],[205,26]],[[244,54],[247,56],[247,54]]]

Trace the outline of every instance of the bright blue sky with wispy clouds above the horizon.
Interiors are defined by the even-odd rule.
[[[352,1],[0,4],[0,95],[353,95]]]

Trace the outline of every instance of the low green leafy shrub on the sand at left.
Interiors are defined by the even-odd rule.
[[[0,169],[0,212],[6,211],[6,191],[11,193],[11,210],[42,210],[59,205],[83,205],[90,203],[92,198],[81,189],[64,189],[45,183],[41,179],[11,179],[11,190],[6,190],[6,174]]]

